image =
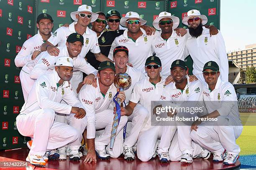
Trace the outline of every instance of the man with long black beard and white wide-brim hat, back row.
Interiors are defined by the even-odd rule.
[[[202,75],[203,66],[213,60],[220,65],[221,79],[228,81],[228,57],[220,31],[218,30],[217,35],[210,36],[209,29],[202,26],[207,23],[207,17],[201,15],[198,10],[189,10],[182,23],[189,27],[185,57],[189,54],[193,59],[193,74],[205,82]]]

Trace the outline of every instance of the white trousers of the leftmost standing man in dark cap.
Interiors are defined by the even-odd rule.
[[[23,70],[20,71],[20,83],[23,92],[24,101],[28,99],[28,93],[30,92],[35,80],[30,78],[30,74],[24,72]]]

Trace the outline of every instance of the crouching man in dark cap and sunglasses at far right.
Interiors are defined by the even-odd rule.
[[[206,62],[203,67],[205,87],[203,99],[207,115],[201,118],[215,118],[217,121],[197,120],[191,126],[192,140],[210,152],[213,152],[213,161],[223,161],[223,152],[228,155],[223,161],[226,165],[233,165],[239,158],[240,147],[236,139],[241,135],[243,126],[238,112],[236,92],[230,82],[220,79],[220,69],[216,62]]]

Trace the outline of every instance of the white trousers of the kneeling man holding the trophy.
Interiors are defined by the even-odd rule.
[[[123,150],[121,150],[120,147],[118,147],[120,142],[123,141],[123,127],[125,126],[127,122],[127,116],[121,116],[120,122],[117,128],[117,135],[115,138],[115,143],[113,146],[113,149],[110,150],[110,135],[111,135],[111,129],[114,119],[114,113],[113,109],[107,109],[102,112],[96,113],[96,124],[95,128],[96,130],[105,128],[104,132],[97,138],[95,138],[95,149],[97,150],[104,150],[105,146],[107,146],[107,153],[110,154],[112,158],[118,158],[121,153],[123,153]]]

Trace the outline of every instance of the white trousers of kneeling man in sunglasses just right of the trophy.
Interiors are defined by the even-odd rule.
[[[177,130],[176,126],[151,126],[148,130],[142,130],[137,141],[137,156],[142,162],[147,162],[156,153],[157,140],[159,153],[168,153],[172,138]]]

